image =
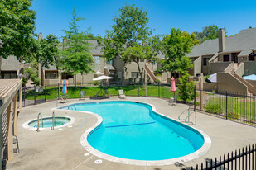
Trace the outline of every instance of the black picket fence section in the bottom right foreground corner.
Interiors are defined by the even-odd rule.
[[[210,170],[210,169],[239,169],[239,170],[255,170],[256,169],[256,144],[249,145],[245,149],[235,150],[227,155],[220,156],[220,158],[215,158],[206,160],[205,163],[196,165],[196,168],[191,167],[191,170]]]

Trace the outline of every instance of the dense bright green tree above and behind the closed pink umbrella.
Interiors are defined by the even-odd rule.
[[[162,53],[165,54],[165,59],[162,60],[162,70],[171,73],[186,73],[193,66],[186,54],[190,53],[192,46],[197,43],[195,34],[172,28],[171,34],[166,35],[162,40]]]

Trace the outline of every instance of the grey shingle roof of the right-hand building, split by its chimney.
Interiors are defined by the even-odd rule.
[[[240,31],[237,35],[226,37],[225,50],[223,52],[237,52],[241,50],[256,49],[256,28]],[[201,45],[196,45],[189,57],[197,57],[206,54],[216,54],[219,52],[219,40],[205,40]]]

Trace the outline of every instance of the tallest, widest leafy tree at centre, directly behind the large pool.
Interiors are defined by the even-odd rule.
[[[147,26],[147,12],[134,5],[121,7],[119,12],[118,16],[114,17],[112,30],[106,31],[104,58],[111,60],[119,57],[124,64],[137,63],[142,80],[142,71],[138,62],[149,57],[144,53],[149,50],[147,41],[152,34],[152,30]]]

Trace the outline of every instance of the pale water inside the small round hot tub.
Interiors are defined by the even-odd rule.
[[[46,118],[43,118],[42,120],[43,120],[43,124],[41,123],[41,119],[39,120],[39,127],[40,128],[52,127],[52,117],[46,117]],[[67,117],[55,117],[54,126],[65,125],[68,122],[70,122],[70,118],[67,118]],[[37,128],[38,127],[37,120],[31,121],[28,125],[31,126],[31,127]]]

